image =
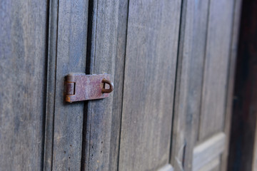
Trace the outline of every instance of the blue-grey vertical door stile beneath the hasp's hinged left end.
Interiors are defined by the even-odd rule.
[[[81,0],[59,1],[52,170],[81,169],[84,103],[64,102],[64,76],[86,71],[88,5]],[[49,61],[54,58],[49,56]]]

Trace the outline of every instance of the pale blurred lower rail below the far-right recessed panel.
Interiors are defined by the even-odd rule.
[[[219,158],[225,149],[225,142],[226,135],[224,133],[218,133],[194,147],[192,170],[201,170],[209,162],[215,160],[217,157]]]

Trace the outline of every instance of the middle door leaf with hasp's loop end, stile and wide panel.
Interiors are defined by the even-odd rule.
[[[108,99],[88,103],[82,167],[171,169],[181,1],[98,1],[92,6],[89,73],[111,73],[115,90]]]

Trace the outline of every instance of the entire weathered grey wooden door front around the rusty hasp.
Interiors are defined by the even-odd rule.
[[[1,169],[226,170],[240,6],[1,3]],[[65,103],[69,73],[114,92]]]

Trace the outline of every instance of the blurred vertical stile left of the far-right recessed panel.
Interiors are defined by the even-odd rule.
[[[176,75],[171,164],[191,170],[201,107],[208,1],[183,1]]]

